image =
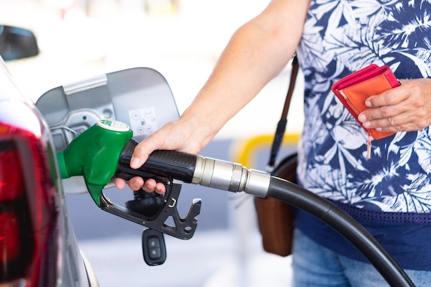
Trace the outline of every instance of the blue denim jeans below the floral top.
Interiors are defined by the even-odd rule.
[[[372,264],[340,256],[301,231],[295,230],[293,242],[293,287],[389,286]],[[406,273],[416,287],[431,286],[431,271]]]

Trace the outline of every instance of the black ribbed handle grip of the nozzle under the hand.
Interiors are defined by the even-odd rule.
[[[196,167],[196,155],[180,151],[156,150],[149,155],[142,167],[132,169],[130,159],[136,145],[138,145],[136,140],[129,140],[126,143],[123,151],[121,151],[120,160],[118,160],[119,171],[143,178],[143,175],[151,174],[191,183]]]

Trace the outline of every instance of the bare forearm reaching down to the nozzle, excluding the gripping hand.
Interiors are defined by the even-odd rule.
[[[194,128],[202,130],[203,145],[295,54],[308,3],[273,3],[233,34],[207,83],[180,118],[199,123]]]

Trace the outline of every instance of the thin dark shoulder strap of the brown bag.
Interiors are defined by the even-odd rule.
[[[296,77],[298,74],[299,65],[297,56],[293,58],[292,61],[292,74],[291,74],[291,81],[289,83],[287,94],[286,94],[286,101],[284,102],[284,108],[282,112],[282,117],[280,118],[280,121],[277,124],[277,129],[275,131],[275,136],[273,140],[273,145],[271,147],[271,153],[269,156],[269,162],[266,167],[268,171],[272,171],[275,165],[275,158],[277,158],[277,153],[280,150],[280,147],[282,145],[284,132],[286,131],[286,125],[287,125],[287,114],[289,106],[291,105],[291,99],[293,90],[295,89],[295,83],[296,83]]]

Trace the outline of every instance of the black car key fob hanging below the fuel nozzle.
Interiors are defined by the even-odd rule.
[[[142,246],[147,265],[157,266],[165,262],[166,245],[163,233],[151,228],[145,229],[142,234]]]

